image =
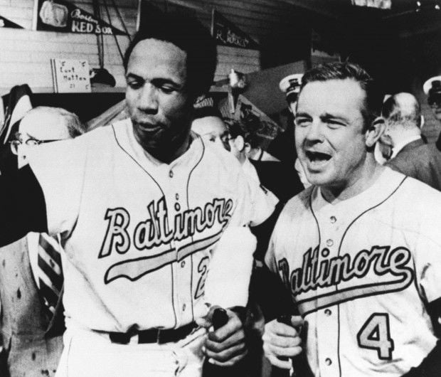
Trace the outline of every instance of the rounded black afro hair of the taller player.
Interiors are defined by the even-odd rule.
[[[213,83],[217,64],[216,42],[208,28],[188,14],[159,14],[136,33],[124,55],[127,70],[135,46],[145,39],[173,43],[187,54],[187,83],[190,94],[198,97],[208,92]]]

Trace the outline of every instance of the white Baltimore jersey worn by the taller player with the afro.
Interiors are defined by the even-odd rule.
[[[29,156],[48,233],[60,233],[65,250],[67,326],[127,331],[192,322],[205,307],[208,264],[225,228],[272,213],[233,155],[191,138],[164,164],[124,120]]]

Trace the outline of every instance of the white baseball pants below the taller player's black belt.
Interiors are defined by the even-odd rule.
[[[134,337],[136,338],[136,337]],[[206,329],[176,343],[115,344],[107,334],[68,329],[56,377],[201,376]]]

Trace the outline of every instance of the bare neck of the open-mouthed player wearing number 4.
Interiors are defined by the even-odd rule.
[[[353,179],[336,186],[322,186],[320,188],[322,196],[329,203],[346,201],[371,187],[381,176],[383,170],[383,166],[369,159],[359,171],[354,172]]]

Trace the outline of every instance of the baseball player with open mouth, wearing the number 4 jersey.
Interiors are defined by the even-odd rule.
[[[301,314],[265,325],[280,368],[303,349],[314,376],[440,375],[441,194],[376,163],[381,100],[358,65],[304,75],[295,139],[313,186],[287,203],[265,257]]]

